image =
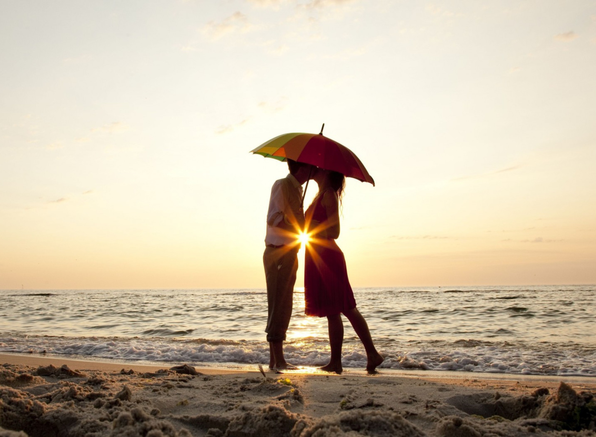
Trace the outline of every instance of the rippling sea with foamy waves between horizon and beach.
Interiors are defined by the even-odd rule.
[[[4,290],[0,352],[237,368],[268,364],[264,289]],[[354,290],[392,369],[596,377],[595,285],[376,287]],[[365,367],[344,318],[343,366]],[[304,315],[288,362],[327,364],[327,319]]]

